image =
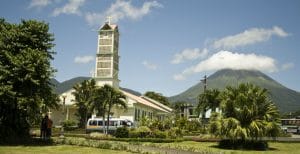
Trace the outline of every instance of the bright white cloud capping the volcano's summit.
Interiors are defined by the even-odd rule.
[[[182,73],[173,76],[174,80],[184,80],[187,76],[220,69],[247,69],[260,70],[264,72],[276,72],[276,61],[267,56],[243,53],[234,53],[230,51],[220,51],[206,60],[201,61],[195,66],[185,69]]]

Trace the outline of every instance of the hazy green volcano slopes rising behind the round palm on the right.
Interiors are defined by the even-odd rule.
[[[223,90],[227,86],[240,83],[253,83],[268,89],[271,100],[281,112],[293,112],[300,109],[300,93],[288,89],[260,71],[223,69],[207,79],[208,89]],[[186,91],[169,98],[170,102],[186,101],[196,104],[197,97],[203,92],[203,84],[198,83]]]

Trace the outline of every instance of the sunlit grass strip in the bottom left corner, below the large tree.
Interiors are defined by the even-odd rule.
[[[98,148],[58,145],[58,146],[0,146],[1,154],[130,154]]]

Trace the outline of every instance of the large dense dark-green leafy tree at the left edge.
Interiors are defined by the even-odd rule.
[[[0,138],[28,135],[42,106],[58,107],[50,84],[53,41],[44,22],[0,19]]]

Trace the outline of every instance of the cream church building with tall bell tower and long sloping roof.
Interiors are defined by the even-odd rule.
[[[118,26],[106,22],[98,31],[98,45],[96,54],[96,67],[94,79],[97,86],[108,84],[126,96],[128,109],[113,108],[112,117],[128,119],[138,125],[142,117],[150,119],[164,119],[171,115],[172,109],[162,103],[131,90],[119,87],[119,30]],[[73,89],[60,94],[61,105],[65,106],[57,111],[51,111],[54,125],[60,125],[64,120],[78,121],[75,116],[75,97]]]

